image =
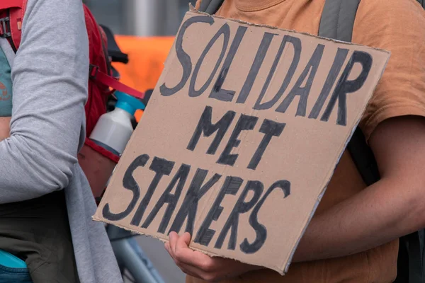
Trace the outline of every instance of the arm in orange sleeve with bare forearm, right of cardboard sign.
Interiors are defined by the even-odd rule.
[[[295,261],[358,253],[425,227],[425,34],[418,23],[425,12],[416,1],[358,6],[353,42],[391,52],[360,125],[381,180],[315,215]]]

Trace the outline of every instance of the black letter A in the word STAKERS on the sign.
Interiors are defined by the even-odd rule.
[[[149,216],[147,216],[145,222],[142,224],[142,228],[149,227],[155,216],[157,216],[159,209],[161,209],[164,204],[168,203],[169,205],[166,207],[164,216],[162,216],[162,221],[158,228],[158,233],[165,233],[165,229],[170,222],[174,209],[176,209],[181,191],[183,190],[186,179],[188,178],[189,171],[191,171],[191,166],[188,166],[187,164],[182,164],[180,166],[179,171],[177,171],[176,175],[174,175],[174,178],[171,180],[168,187],[166,187],[166,190],[162,193],[162,196],[159,197],[159,200],[157,204],[155,204],[154,209],[152,209],[152,212],[149,214]],[[176,192],[171,194],[171,190],[173,190],[175,186]]]

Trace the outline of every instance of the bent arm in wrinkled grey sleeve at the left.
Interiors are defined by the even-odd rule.
[[[0,203],[67,187],[84,132],[89,47],[81,1],[29,0],[12,66],[11,137],[0,141]]]

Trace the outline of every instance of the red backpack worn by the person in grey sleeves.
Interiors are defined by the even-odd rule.
[[[0,37],[8,40],[14,52],[18,50],[21,42],[21,28],[26,4],[27,0],[0,0]],[[85,105],[85,145],[111,159],[111,161],[118,163],[119,156],[115,156],[110,151],[98,146],[88,137],[91,131],[93,131],[99,117],[106,113],[108,97],[112,95],[113,91],[123,91],[137,98],[143,98],[145,94],[129,86],[125,86],[118,79],[113,78],[111,59],[107,51],[108,40],[106,34],[101,26],[98,25],[86,5],[84,5],[84,16],[87,34],[89,36],[90,59],[89,96]]]

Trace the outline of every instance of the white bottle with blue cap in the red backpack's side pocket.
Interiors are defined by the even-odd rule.
[[[91,132],[90,139],[104,149],[120,156],[133,132],[131,119],[138,109],[145,109],[142,101],[115,91],[117,103],[111,112],[101,115]]]

